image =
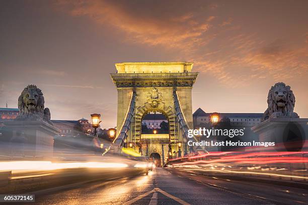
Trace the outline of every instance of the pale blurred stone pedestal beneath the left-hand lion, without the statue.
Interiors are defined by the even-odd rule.
[[[53,138],[60,133],[53,125],[45,121],[7,121],[4,125],[7,154],[12,159],[51,159]]]

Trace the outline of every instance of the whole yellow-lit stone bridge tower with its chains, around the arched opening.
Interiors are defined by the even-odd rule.
[[[117,73],[110,74],[118,91],[115,144],[127,147],[131,143],[143,155],[171,151],[171,158],[178,156],[179,149],[187,153],[187,131],[193,128],[191,91],[198,75],[192,72],[193,63],[124,62],[115,66]],[[141,134],[142,118],[150,112],[165,115],[169,135]]]

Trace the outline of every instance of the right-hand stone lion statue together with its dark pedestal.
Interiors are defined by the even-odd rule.
[[[268,92],[267,104],[262,122],[252,131],[259,134],[260,142],[275,142],[275,146],[260,151],[294,152],[308,146],[308,119],[294,113],[295,96],[290,86],[277,82]]]

